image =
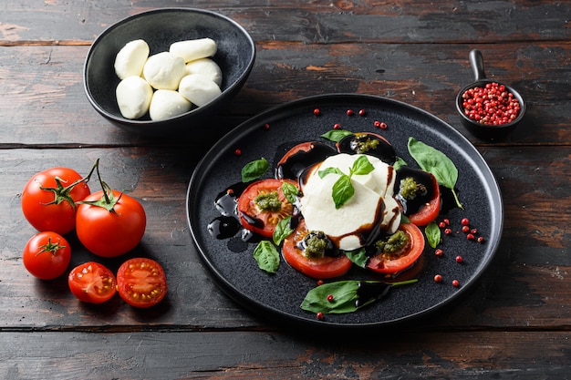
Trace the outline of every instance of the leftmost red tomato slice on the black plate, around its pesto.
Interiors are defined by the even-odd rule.
[[[285,199],[284,191],[282,190],[283,182],[288,182],[297,188],[296,182],[293,180],[267,179],[255,181],[244,190],[238,199],[238,216],[244,228],[259,233],[266,238],[271,238],[277,223],[288,215],[292,215],[294,205]],[[277,191],[277,198],[281,201],[280,210],[261,210],[255,202],[256,197],[273,191]]]

